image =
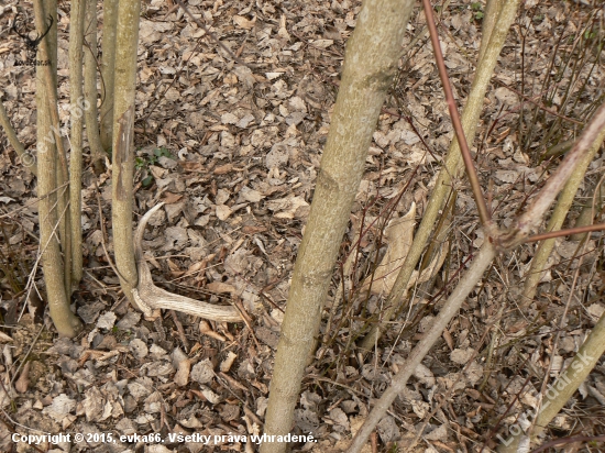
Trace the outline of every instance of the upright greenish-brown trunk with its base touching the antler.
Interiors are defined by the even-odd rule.
[[[112,145],[112,223],[116,264],[124,295],[136,305],[132,290],[138,285],[132,232],[134,172],[134,95],[139,44],[140,0],[122,0],[118,10],[116,46],[116,104]],[[103,56],[105,58],[105,56]]]

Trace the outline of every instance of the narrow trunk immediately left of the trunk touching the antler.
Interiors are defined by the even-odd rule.
[[[113,100],[118,0],[103,0],[103,40],[101,44],[101,144],[106,152],[113,140]],[[96,20],[95,20],[96,22]],[[136,21],[139,23],[139,20]]]

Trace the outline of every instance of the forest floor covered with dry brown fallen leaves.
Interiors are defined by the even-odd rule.
[[[22,40],[10,30],[15,8],[32,11],[28,2],[0,7],[0,86],[20,140],[33,150],[35,79],[32,67],[15,65],[26,58]],[[213,303],[239,301],[252,321],[217,324],[175,312],[144,319],[129,306],[107,257],[112,257],[111,172],[97,177],[87,168],[86,269],[73,297],[86,329],[75,340],[58,339],[47,316],[23,302],[28,283],[44,295],[35,266],[36,184],[1,135],[0,451],[35,451],[12,442],[11,433],[36,430],[87,434],[81,442],[53,445],[55,452],[256,449],[239,437],[262,433],[289,279],[360,3],[190,0],[188,8],[249,66],[233,62],[172,1],[144,2],[135,220],[158,201],[166,203],[143,243],[158,286]],[[475,68],[483,8],[460,1],[436,7],[459,100],[465,99]],[[554,168],[557,153],[544,154],[573,139],[603,100],[600,8],[590,1],[522,5],[472,150],[501,225]],[[61,2],[59,112],[66,124],[68,27],[68,3]],[[344,273],[334,273],[321,343],[296,409],[293,433],[312,432],[317,442],[293,443],[293,451],[342,451],[483,241],[466,180],[458,179],[448,208],[451,228],[437,239],[447,252],[442,267],[413,288],[413,302],[374,354],[359,354],[354,340],[375,322],[384,302],[384,295],[360,290],[387,248],[382,231],[413,203],[421,218],[453,136],[418,11],[404,46],[408,59],[380,118],[339,263],[350,253],[356,258],[344,296],[338,289]],[[569,225],[592,200],[602,168],[597,155]],[[598,199],[595,212],[598,221]],[[578,245],[559,240],[539,294],[524,312],[517,305],[535,245],[495,262],[382,420],[378,451],[490,451],[515,423],[527,424],[524,413],[536,407],[544,375],[556,376],[571,360],[605,309],[602,235],[594,233],[585,248]],[[604,433],[604,375],[602,364],[553,421],[549,438]],[[101,434],[109,433],[118,441],[102,443]],[[165,442],[119,439],[135,433]],[[170,433],[221,440],[172,442]]]

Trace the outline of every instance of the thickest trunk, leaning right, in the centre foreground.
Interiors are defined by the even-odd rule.
[[[275,367],[265,433],[287,434],[308,353],[318,333],[338,251],[386,92],[397,70],[411,0],[367,0],[346,44],[342,81],[309,221],[298,251]],[[262,453],[284,452],[267,442]]]

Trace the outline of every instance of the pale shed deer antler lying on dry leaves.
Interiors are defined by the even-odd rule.
[[[138,308],[145,313],[145,316],[151,316],[153,309],[163,308],[166,310],[183,311],[184,313],[195,314],[212,321],[243,321],[242,316],[235,307],[206,303],[185,296],[168,292],[153,284],[150,267],[143,256],[141,242],[150,218],[162,208],[163,205],[164,203],[158,203],[150,209],[145,216],[141,218],[134,233],[134,257],[138,263],[139,284],[132,292]]]

